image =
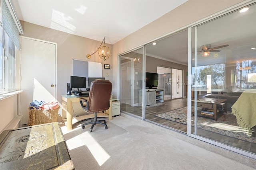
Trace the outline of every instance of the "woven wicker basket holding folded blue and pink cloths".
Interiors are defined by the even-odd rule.
[[[28,107],[29,109],[29,117],[28,117],[28,126],[32,125],[40,125],[44,123],[52,123],[57,121],[58,118],[58,110],[57,109],[50,109],[50,110],[40,110],[36,109],[33,106]]]

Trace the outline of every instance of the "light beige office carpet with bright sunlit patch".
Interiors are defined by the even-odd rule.
[[[255,165],[245,156],[128,115],[107,124],[108,129],[95,125],[91,133],[90,125],[68,132],[61,125],[76,170],[250,170]]]

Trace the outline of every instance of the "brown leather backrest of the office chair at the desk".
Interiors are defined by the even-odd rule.
[[[109,80],[96,79],[91,82],[88,97],[88,112],[104,111],[110,107],[112,83]]]

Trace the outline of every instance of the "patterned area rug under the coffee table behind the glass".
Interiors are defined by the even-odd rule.
[[[198,110],[200,110],[200,108],[198,108]],[[194,111],[193,106],[191,111]],[[187,107],[182,107],[180,109],[160,113],[155,116],[187,125]],[[191,119],[191,124],[194,126],[193,115]],[[220,117],[218,117],[217,121],[214,121],[214,119],[208,117],[198,116],[197,127],[214,133],[226,135],[235,139],[240,139],[250,143],[256,143],[256,137],[251,137],[248,129],[242,129],[241,127],[239,127],[236,123],[236,117],[230,112],[221,114]]]

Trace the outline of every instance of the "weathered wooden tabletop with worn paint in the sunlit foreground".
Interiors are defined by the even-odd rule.
[[[1,170],[73,170],[58,122],[3,131]]]

